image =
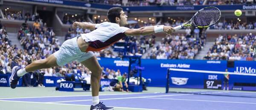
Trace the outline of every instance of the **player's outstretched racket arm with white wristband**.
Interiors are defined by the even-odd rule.
[[[171,34],[174,31],[174,28],[171,26],[164,25],[155,25],[155,26],[145,26],[140,27],[138,29],[129,29],[125,31],[126,36],[137,36],[137,35],[149,35],[158,32],[166,32],[167,34]]]

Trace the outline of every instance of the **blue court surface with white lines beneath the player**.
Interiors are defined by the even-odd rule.
[[[189,89],[187,89],[188,91]],[[201,92],[201,91],[194,91]],[[58,92],[67,93],[67,92]],[[81,92],[79,92],[81,93]],[[201,92],[206,93],[206,92]],[[243,96],[256,96],[255,93],[243,93],[236,91],[213,91],[212,94],[240,94]],[[256,98],[200,95],[194,93],[117,93],[100,95],[104,104],[115,107],[115,110],[253,110],[256,108]],[[77,96],[38,96],[1,98],[0,102],[19,102],[29,105],[43,104],[44,106],[66,105],[76,107],[82,106],[84,110],[90,107],[90,95]],[[1,104],[0,103],[0,104]],[[2,106],[3,107],[3,106]],[[12,107],[11,107],[12,108]],[[22,107],[21,107],[22,108]],[[2,109],[5,110],[5,109]],[[11,109],[12,110],[12,109]],[[41,108],[40,110],[47,110]],[[78,109],[80,110],[80,109]]]

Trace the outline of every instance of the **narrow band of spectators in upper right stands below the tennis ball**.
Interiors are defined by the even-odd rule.
[[[245,30],[245,29],[256,29],[256,22],[218,22],[217,24],[210,27],[210,29],[218,30]]]

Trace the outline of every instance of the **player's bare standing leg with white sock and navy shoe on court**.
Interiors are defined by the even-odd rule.
[[[78,59],[79,61],[80,59]],[[92,99],[93,105],[91,105],[90,110],[114,110],[113,107],[106,107],[102,102],[99,102],[99,87],[100,79],[102,74],[102,68],[99,65],[97,58],[93,55],[87,60],[81,62],[86,66],[91,72],[91,86],[92,86]]]

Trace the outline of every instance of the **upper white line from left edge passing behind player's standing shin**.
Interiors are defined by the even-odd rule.
[[[151,93],[116,93],[116,94],[100,94],[99,96],[133,95],[133,94],[151,94]],[[75,96],[92,96],[92,95],[75,95]],[[35,96],[35,97],[14,97],[14,98],[2,98],[2,99],[27,99],[27,98],[51,98],[51,97],[72,97],[72,96]],[[2,99],[0,98],[0,100]]]

